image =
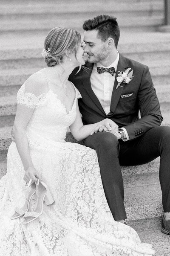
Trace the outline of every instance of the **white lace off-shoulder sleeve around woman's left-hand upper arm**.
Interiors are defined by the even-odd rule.
[[[33,93],[25,92],[25,84],[23,84],[17,93],[17,104],[26,105],[28,108],[37,108],[44,104],[46,93],[35,96]]]

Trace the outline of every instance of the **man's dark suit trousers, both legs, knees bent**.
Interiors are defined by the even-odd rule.
[[[96,150],[102,184],[115,221],[125,219],[120,166],[148,163],[160,156],[159,179],[164,212],[170,212],[170,127],[158,126],[126,142],[114,134],[98,132],[79,142]]]

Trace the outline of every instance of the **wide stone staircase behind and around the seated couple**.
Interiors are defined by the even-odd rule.
[[[28,76],[45,67],[41,52],[46,33],[54,26],[73,27],[82,33],[83,21],[102,13],[117,17],[119,52],[149,67],[162,124],[170,125],[170,34],[156,32],[164,23],[163,0],[1,0],[0,178],[6,173],[17,90]],[[74,142],[71,134],[67,141]],[[170,237],[160,232],[159,158],[141,166],[123,166],[122,174],[129,225],[142,242],[153,244],[156,256],[169,256]]]

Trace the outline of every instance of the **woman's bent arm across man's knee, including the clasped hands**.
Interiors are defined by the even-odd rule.
[[[106,127],[108,131],[112,131],[113,134],[118,131],[118,125],[108,118],[91,125],[83,125],[77,101],[77,116],[74,123],[69,127],[76,140],[83,140],[89,135],[94,134],[96,131],[103,131],[104,127]]]

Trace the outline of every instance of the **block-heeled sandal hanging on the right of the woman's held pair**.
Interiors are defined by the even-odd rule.
[[[36,209],[32,212],[26,212],[24,214],[23,217],[25,220],[23,221],[23,224],[28,224],[42,215],[44,201],[47,205],[54,203],[54,199],[51,196],[48,186],[43,181],[39,181],[39,184],[36,183],[36,191],[38,192]]]

